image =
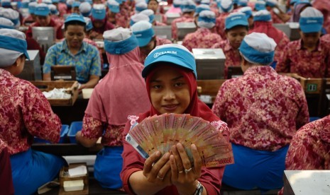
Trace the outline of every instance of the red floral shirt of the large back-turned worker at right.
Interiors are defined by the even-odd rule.
[[[226,81],[212,111],[228,124],[232,143],[254,150],[287,146],[309,121],[300,83],[270,66],[250,67],[243,76]]]

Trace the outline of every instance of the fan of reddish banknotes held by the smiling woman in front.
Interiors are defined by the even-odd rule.
[[[189,114],[161,114],[148,117],[131,128],[126,141],[143,158],[148,158],[156,150],[162,154],[170,152],[172,146],[180,142],[192,164],[192,143],[197,146],[204,167],[219,167],[233,163],[231,144],[221,132],[204,119]]]

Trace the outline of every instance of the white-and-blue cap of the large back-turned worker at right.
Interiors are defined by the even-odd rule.
[[[275,47],[275,41],[265,33],[252,32],[244,37],[238,49],[250,63],[268,65],[274,60]]]

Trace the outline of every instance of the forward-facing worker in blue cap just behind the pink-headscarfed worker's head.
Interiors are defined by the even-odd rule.
[[[89,38],[103,39],[103,32],[114,29],[114,25],[106,20],[106,7],[104,4],[94,4],[92,8],[92,24],[93,29],[89,33]]]

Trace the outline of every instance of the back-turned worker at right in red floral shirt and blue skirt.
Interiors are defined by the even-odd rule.
[[[275,47],[264,33],[246,35],[239,47],[244,75],[222,84],[212,107],[231,134],[235,164],[226,166],[222,180],[231,187],[262,192],[282,187],[292,136],[309,122],[300,83],[269,66]]]

